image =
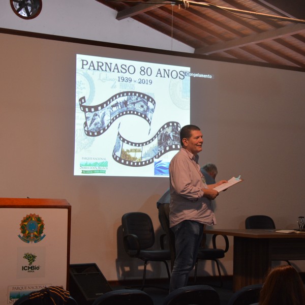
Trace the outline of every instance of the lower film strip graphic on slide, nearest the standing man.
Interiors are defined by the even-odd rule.
[[[178,122],[170,121],[164,124],[154,137],[141,143],[125,139],[118,131],[112,158],[126,166],[140,167],[152,164],[155,158],[158,159],[169,151],[180,149],[180,129]],[[161,162],[156,165],[155,170],[162,172],[162,167]],[[164,169],[168,169],[168,166]]]

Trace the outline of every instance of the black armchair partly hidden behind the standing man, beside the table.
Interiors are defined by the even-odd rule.
[[[216,238],[217,236],[222,236],[225,239],[225,249],[219,249],[216,246]],[[220,271],[220,266],[219,266],[219,261],[218,259],[225,257],[225,253],[228,252],[229,250],[229,239],[226,235],[221,235],[221,234],[214,234],[212,235],[212,245],[213,248],[206,248],[205,245],[206,242],[206,234],[203,235],[203,239],[201,242],[201,248],[198,251],[196,263],[195,263],[195,275],[194,275],[194,283],[197,282],[197,270],[198,270],[198,262],[199,260],[212,260],[215,261],[218,274],[219,274],[219,279],[220,279],[220,285],[223,286],[223,281],[221,277],[221,271]]]

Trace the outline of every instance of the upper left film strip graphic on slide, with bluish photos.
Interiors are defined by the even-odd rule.
[[[102,135],[117,118],[123,115],[140,116],[150,126],[156,107],[156,101],[152,97],[136,91],[117,93],[95,106],[85,105],[85,97],[78,101],[81,111],[85,113],[84,131],[89,137]]]

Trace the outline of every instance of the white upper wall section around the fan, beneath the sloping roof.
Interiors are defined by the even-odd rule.
[[[193,53],[193,48],[138,21],[116,20],[116,13],[95,0],[44,0],[39,16],[24,20],[15,15],[9,1],[2,1],[0,27]]]

